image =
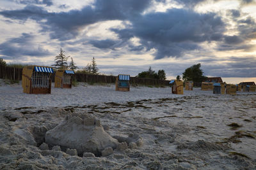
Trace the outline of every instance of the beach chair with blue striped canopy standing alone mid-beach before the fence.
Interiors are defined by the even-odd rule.
[[[130,91],[130,75],[119,74],[116,77],[116,91],[122,91],[122,92]]]

